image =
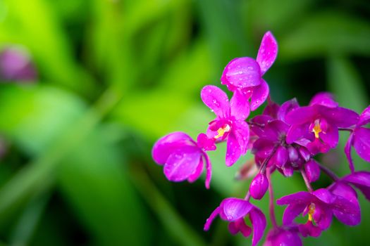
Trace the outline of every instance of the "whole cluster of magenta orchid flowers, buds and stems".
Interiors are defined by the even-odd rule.
[[[252,179],[245,198],[226,198],[209,216],[204,225],[208,231],[212,221],[219,216],[228,221],[230,233],[251,233],[252,245],[257,245],[266,229],[266,217],[252,204],[251,198],[260,200],[267,190],[270,194],[270,217],[273,228],[267,233],[264,245],[302,245],[301,237],[318,237],[331,226],[333,216],[348,226],[361,220],[357,188],[370,200],[370,172],[356,171],[351,148],[362,159],[370,162],[370,106],[358,115],[341,108],[330,93],[318,93],[307,106],[296,99],[278,105],[269,97],[269,85],[262,78],[276,60],[278,44],[271,32],[266,32],[257,58],[235,58],[226,66],[221,84],[233,92],[230,99],[217,86],[204,86],[203,103],[216,118],[209,122],[206,133],[197,141],[182,132],[168,134],[154,145],[152,155],[156,163],[164,165],[164,174],[170,181],[193,182],[206,169],[206,188],[211,181],[211,162],[207,151],[226,142],[226,166],[235,164],[240,156],[250,150],[258,173]],[[261,115],[247,120],[249,112],[267,101]],[[339,131],[350,131],[345,154],[350,164],[350,174],[336,176],[333,171],[317,162],[314,157],[327,153],[338,145]],[[251,162],[249,162],[251,163]],[[274,215],[271,174],[302,175],[307,191],[286,195],[276,200],[277,205],[287,205],[283,223],[278,225]],[[311,183],[323,172],[333,183],[314,190]],[[295,218],[307,216],[305,224]],[[245,223],[248,217],[251,226]]]

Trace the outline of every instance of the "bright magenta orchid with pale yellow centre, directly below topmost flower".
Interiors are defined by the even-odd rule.
[[[249,127],[245,119],[249,116],[249,105],[238,91],[229,104],[228,96],[217,86],[204,86],[201,97],[216,114],[216,119],[209,123],[207,136],[215,141],[227,138],[226,165],[230,167],[247,152]]]

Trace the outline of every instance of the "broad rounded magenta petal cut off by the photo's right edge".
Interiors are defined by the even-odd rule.
[[[362,159],[370,162],[370,129],[359,127],[354,131],[353,147]]]

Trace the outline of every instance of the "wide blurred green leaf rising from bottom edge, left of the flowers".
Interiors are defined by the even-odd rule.
[[[120,131],[116,134],[123,135]],[[99,127],[58,167],[58,184],[97,245],[147,245],[149,224],[121,150]]]

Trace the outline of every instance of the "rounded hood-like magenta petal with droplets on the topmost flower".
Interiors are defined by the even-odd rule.
[[[235,58],[226,65],[221,84],[247,88],[261,84],[261,69],[256,60],[249,57]]]

